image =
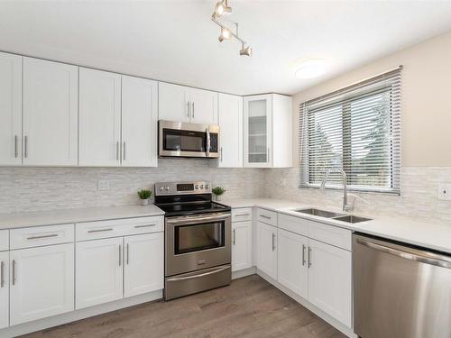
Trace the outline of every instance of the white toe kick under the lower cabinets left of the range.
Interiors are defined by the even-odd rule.
[[[61,324],[68,324],[71,322],[78,321],[80,319],[85,319],[92,317],[94,315],[102,315],[107,312],[119,310],[121,308],[136,306],[138,304],[143,304],[147,302],[152,302],[157,299],[162,298],[162,290],[149,292],[143,295],[128,297],[115,302],[110,302],[102,304],[99,306],[91,306],[81,310],[75,310],[62,315],[54,315],[48,318],[43,318],[30,323],[18,324],[14,326],[7,327],[0,330],[0,337],[2,338],[12,338],[17,337],[22,334],[32,333],[36,331],[41,331],[49,327],[58,326]]]

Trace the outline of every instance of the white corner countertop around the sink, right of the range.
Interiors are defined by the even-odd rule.
[[[451,253],[451,224],[428,223],[407,217],[361,214],[358,215],[372,218],[372,220],[358,224],[348,224],[325,217],[299,214],[293,210],[315,207],[347,214],[343,213],[339,208],[312,206],[300,202],[271,198],[230,199],[221,201],[220,203],[231,206],[232,208],[258,206],[278,213],[349,229],[353,232],[371,234],[393,241],[406,242],[432,250]]]

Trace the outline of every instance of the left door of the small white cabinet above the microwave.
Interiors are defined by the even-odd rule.
[[[190,122],[189,87],[160,82],[158,88],[160,120]]]

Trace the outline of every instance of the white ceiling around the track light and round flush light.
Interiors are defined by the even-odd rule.
[[[217,41],[215,1],[0,1],[0,50],[247,95],[294,94],[451,30],[451,1],[229,0],[253,57]],[[322,58],[321,78],[294,78]]]

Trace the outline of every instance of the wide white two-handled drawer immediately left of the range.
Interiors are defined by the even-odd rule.
[[[157,233],[164,231],[164,216],[78,223],[75,228],[77,242],[139,233]]]

